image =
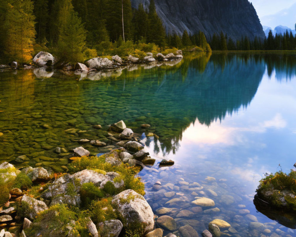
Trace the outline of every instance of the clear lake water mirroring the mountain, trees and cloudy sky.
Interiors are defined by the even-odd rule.
[[[288,172],[296,162],[296,55],[190,55],[174,66],[129,68],[107,78],[92,75],[97,81],[59,72],[48,73],[50,78],[35,74],[0,73],[1,160],[14,162],[26,154],[29,161],[14,162],[22,167],[43,162],[40,156],[46,156],[54,158],[47,165],[59,171],[56,155],[45,148],[69,150],[77,147],[78,138],[104,137],[91,126],[122,119],[135,132],[153,132],[160,137],[142,135],[157,161],[175,161],[174,166],[155,165],[139,174],[155,212],[160,207],[192,210],[196,195],[179,184],[184,179],[198,182],[203,187],[196,191],[198,196],[213,199],[220,212],[207,213],[204,207],[185,218],[168,213],[178,226],[189,224],[200,234],[218,218],[237,231],[223,230],[230,236],[296,236],[295,230],[257,212],[253,204],[263,174],[280,169]],[[151,124],[151,129],[140,129],[143,123]],[[53,129],[44,129],[43,124]],[[87,132],[64,132],[70,128]],[[207,176],[215,180],[209,182]],[[173,188],[175,195],[168,198],[164,193],[172,190],[163,187],[156,193],[152,189],[156,181],[182,187]],[[166,204],[180,196],[184,201]],[[265,226],[252,229],[254,217],[241,209],[250,211]],[[271,233],[264,233],[266,228]]]

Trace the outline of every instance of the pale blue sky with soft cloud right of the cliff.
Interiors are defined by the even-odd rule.
[[[249,0],[254,5],[262,25],[270,26],[271,28],[277,25],[285,25],[294,28],[295,20],[293,16],[282,17],[283,10],[289,9],[296,0]],[[291,11],[290,11],[291,12]],[[295,13],[293,15],[296,15]],[[291,20],[292,18],[292,20]],[[292,22],[291,22],[292,21]]]

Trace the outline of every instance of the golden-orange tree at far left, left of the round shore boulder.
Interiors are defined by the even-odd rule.
[[[36,34],[33,8],[33,2],[30,0],[8,2],[6,20],[9,28],[4,49],[8,58],[20,63],[27,63],[32,59]]]

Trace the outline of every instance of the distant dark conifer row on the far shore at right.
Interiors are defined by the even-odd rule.
[[[276,34],[275,36],[271,31],[268,37],[264,40],[259,39],[257,36],[253,41],[247,37],[242,37],[241,40],[234,41],[227,34],[223,32],[220,35],[213,34],[210,40],[212,50],[296,50],[296,35],[290,31],[284,34]]]

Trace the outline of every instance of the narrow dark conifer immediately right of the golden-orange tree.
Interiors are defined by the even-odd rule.
[[[34,15],[36,17],[36,42],[40,44],[47,37],[47,25],[49,20],[48,0],[35,0]]]

